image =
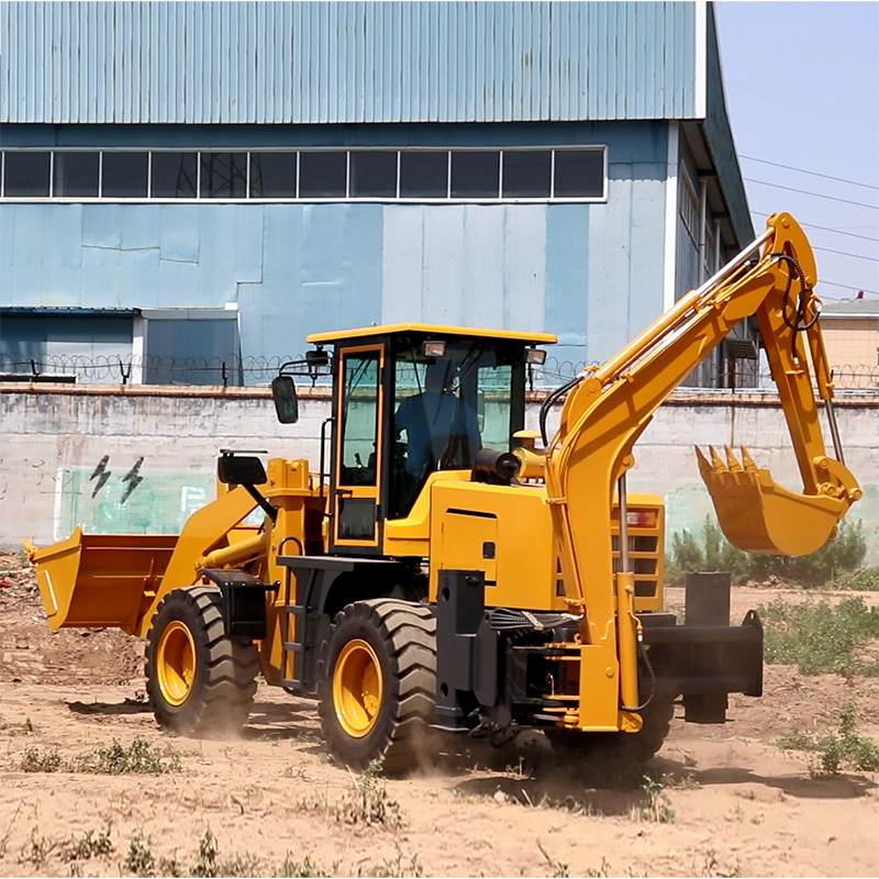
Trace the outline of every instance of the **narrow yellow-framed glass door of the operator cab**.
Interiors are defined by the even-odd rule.
[[[369,550],[381,539],[385,346],[343,348],[338,356],[333,547]]]

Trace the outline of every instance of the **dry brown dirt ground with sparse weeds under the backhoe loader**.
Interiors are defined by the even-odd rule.
[[[737,588],[733,617],[776,597],[803,593]],[[682,590],[668,600],[681,609]],[[813,777],[805,755],[774,744],[816,728],[853,694],[860,732],[879,738],[876,678],[769,666],[764,698],[732,697],[726,724],[676,720],[646,767],[650,785],[609,783],[532,733],[503,749],[455,738],[431,771],[364,782],[324,753],[313,703],[264,685],[238,739],[164,735],[143,701],[142,652],[118,631],[49,633],[31,572],[0,555],[3,876],[131,875],[133,841],[145,871],[152,857],[156,872],[214,875],[208,831],[220,875],[879,875],[879,776]],[[173,748],[180,768],[70,769],[137,737]],[[34,749],[57,753],[60,768],[22,771]],[[371,822],[355,821],[367,800]],[[112,852],[77,855],[73,843],[108,826]]]

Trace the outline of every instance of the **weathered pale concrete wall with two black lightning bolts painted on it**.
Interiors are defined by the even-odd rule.
[[[316,469],[329,400],[324,389],[307,394],[300,422],[283,426],[260,389],[7,386],[0,392],[0,547],[18,548],[26,536],[45,545],[77,524],[93,532],[178,532],[213,497],[214,458],[224,447],[308,457]],[[847,464],[865,489],[850,518],[864,522],[870,561],[879,564],[879,398],[843,398],[837,413]],[[536,403],[528,422],[537,426]],[[631,490],[665,496],[669,533],[698,530],[712,510],[692,452],[710,443],[744,443],[780,482],[801,485],[771,396],[679,392],[635,447],[630,476]]]

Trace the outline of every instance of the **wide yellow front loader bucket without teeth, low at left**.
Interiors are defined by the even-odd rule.
[[[133,632],[168,567],[175,535],[84,534],[43,549],[26,541],[48,627]]]

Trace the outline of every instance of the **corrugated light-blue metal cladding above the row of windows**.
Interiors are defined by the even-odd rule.
[[[3,2],[0,122],[686,119],[679,2]]]

